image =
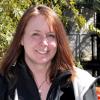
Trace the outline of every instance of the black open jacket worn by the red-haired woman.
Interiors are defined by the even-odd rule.
[[[13,72],[15,69],[16,73]],[[18,91],[19,100],[41,100],[36,83],[23,60],[18,61],[16,66],[12,66],[9,73],[13,74],[14,78],[11,78],[11,75],[6,77],[0,75],[0,100],[14,100],[15,89]],[[58,71],[46,100],[75,100],[70,77],[71,73],[69,71]],[[95,95],[91,94],[91,91],[95,93],[92,87],[85,95],[84,100],[90,100],[89,96],[92,96],[93,100],[97,100]]]

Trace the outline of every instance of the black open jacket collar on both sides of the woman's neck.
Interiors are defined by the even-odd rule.
[[[34,100],[40,100],[36,83],[35,83],[34,79],[32,78],[32,76],[30,74],[30,70],[29,70],[27,64],[25,63],[25,61],[23,59],[18,60],[16,66],[17,66],[17,71],[19,74],[18,75],[19,76],[18,84],[22,84],[22,86],[20,86],[19,88],[22,88],[22,91],[24,92],[22,95],[24,96],[25,88],[28,87],[27,91],[30,91],[30,93],[28,92],[26,95],[33,97],[33,95],[31,95],[31,92],[32,92],[32,93],[34,93],[34,96],[37,95],[36,97],[38,97]],[[65,88],[66,83],[68,83],[67,80],[70,79],[70,77],[71,77],[70,71],[63,71],[63,72],[58,71],[58,73],[56,74],[56,77],[54,78],[52,85],[49,89],[49,92],[47,95],[47,100],[55,100],[54,98],[57,97],[58,89]],[[17,89],[18,94],[20,92],[19,88]],[[61,92],[61,94],[62,94],[62,92]],[[18,97],[17,93],[16,93],[16,97]]]

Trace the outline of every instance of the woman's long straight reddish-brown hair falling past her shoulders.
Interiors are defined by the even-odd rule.
[[[50,67],[49,69],[50,79],[55,76],[58,69],[73,71],[74,59],[69,48],[68,37],[61,20],[51,8],[39,5],[30,7],[20,19],[14,38],[1,65],[1,71],[3,73],[5,73],[12,64],[17,61],[18,57],[23,52],[23,48],[20,43],[24,35],[25,27],[31,17],[38,16],[39,14],[45,16],[49,26],[53,27],[57,38],[57,53],[52,60],[52,68]]]

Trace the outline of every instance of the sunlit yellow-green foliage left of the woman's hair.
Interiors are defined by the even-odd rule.
[[[4,55],[13,37],[18,20],[30,4],[30,0],[0,1],[0,58]]]

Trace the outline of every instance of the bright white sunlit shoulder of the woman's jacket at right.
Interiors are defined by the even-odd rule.
[[[89,72],[86,70],[80,69],[75,67],[75,78],[73,80],[73,86],[75,95],[83,97],[86,91],[95,83],[96,78],[93,77]]]

